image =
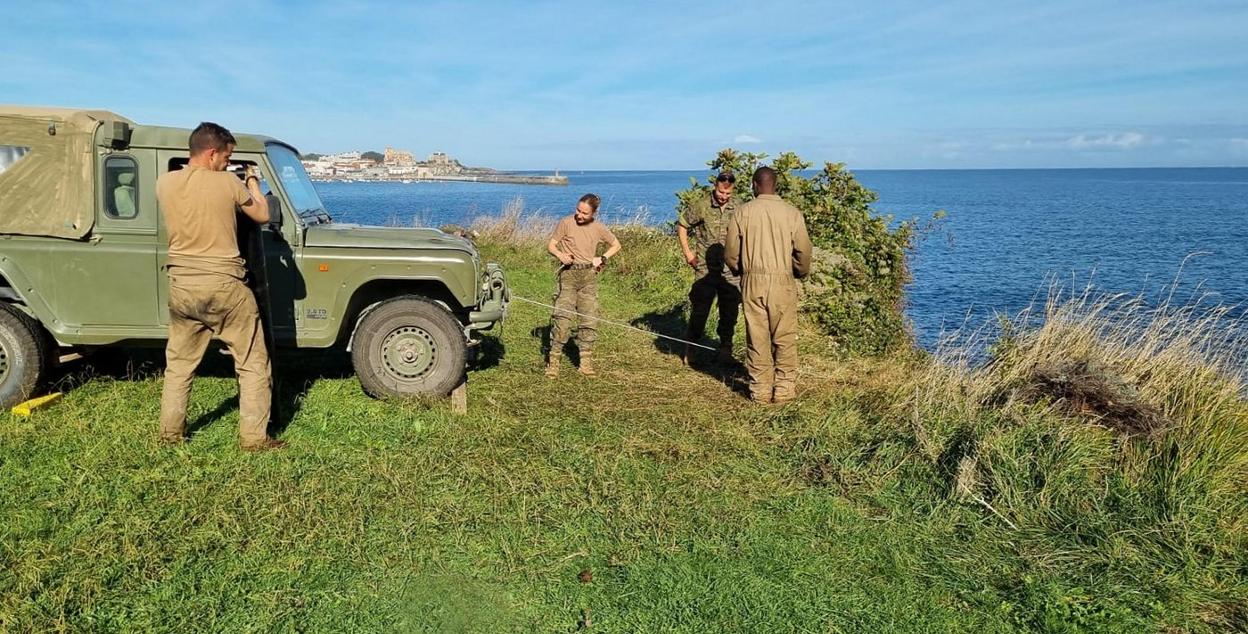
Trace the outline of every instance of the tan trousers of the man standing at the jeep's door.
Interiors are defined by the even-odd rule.
[[[271,369],[256,296],[242,281],[215,273],[170,268],[168,343],[160,436],[186,434],[191,381],[213,337],[233,354],[238,376],[238,437],[243,447],[265,442],[272,407]]]

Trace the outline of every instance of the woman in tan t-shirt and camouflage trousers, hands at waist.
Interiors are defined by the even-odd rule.
[[[582,196],[577,202],[577,212],[555,225],[550,242],[547,243],[547,251],[559,258],[560,263],[555,310],[550,316],[550,354],[545,369],[545,376],[550,378],[559,376],[559,358],[572,329],[573,312],[582,315],[580,327],[577,329],[579,371],[587,377],[597,374],[593,351],[598,338],[598,272],[612,256],[620,252],[620,241],[594,218],[600,202],[594,193]],[[598,245],[608,245],[602,256],[595,255]]]

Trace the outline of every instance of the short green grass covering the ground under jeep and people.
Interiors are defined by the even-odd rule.
[[[674,241],[622,233],[604,315],[670,327]],[[550,297],[540,246],[485,250],[517,295]],[[237,449],[228,371],[197,379],[203,424],[173,449],[155,443],[158,378],[71,376],[61,403],[0,422],[0,630],[1248,627],[1243,493],[1162,478],[1164,439],[986,406],[977,389],[1001,382],[837,359],[810,332],[782,408],[612,328],[599,378],[548,381],[548,317],[513,305],[466,416],[287,369],[291,446],[268,454]],[[1229,417],[1223,438],[1248,422],[1242,396],[1217,394],[1189,418]],[[1248,447],[1184,452],[1234,489]]]

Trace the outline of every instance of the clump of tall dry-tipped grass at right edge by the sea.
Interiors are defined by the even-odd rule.
[[[1068,296],[943,346],[894,421],[1032,540],[1037,567],[1129,575],[1187,618],[1248,627],[1248,328],[1238,307]],[[985,354],[986,351],[986,354]]]

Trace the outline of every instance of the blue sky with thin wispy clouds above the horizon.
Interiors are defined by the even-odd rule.
[[[881,6],[872,6],[872,5]],[[1248,2],[17,2],[0,102],[502,168],[1248,165]]]

